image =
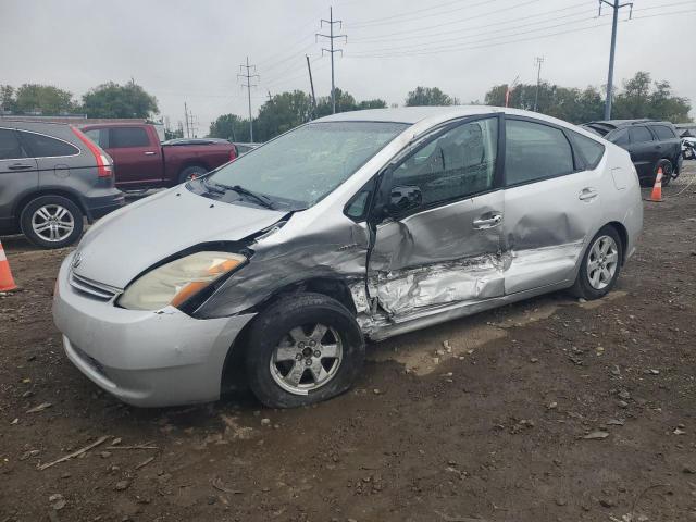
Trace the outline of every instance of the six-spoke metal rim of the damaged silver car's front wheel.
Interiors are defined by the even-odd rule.
[[[307,395],[328,383],[338,371],[343,345],[338,333],[320,323],[297,326],[271,356],[271,375],[286,391]]]

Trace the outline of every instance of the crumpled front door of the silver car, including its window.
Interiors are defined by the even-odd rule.
[[[499,126],[492,115],[436,133],[383,181],[391,215],[374,226],[368,291],[389,319],[504,295]]]

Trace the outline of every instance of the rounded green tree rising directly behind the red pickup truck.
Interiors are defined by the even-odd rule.
[[[150,117],[159,112],[157,98],[133,82],[90,89],[83,96],[82,110],[88,117]]]

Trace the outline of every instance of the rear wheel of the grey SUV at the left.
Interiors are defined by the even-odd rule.
[[[83,234],[84,214],[63,196],[40,196],[20,214],[20,227],[29,241],[41,248],[64,248]]]

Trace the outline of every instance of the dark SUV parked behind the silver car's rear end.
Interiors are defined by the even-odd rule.
[[[679,176],[682,167],[682,144],[670,122],[610,120],[591,122],[583,126],[626,149],[642,185],[652,185],[660,166],[662,185],[669,185],[670,181]]]

